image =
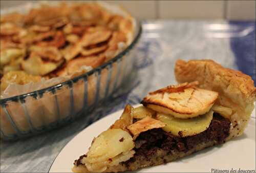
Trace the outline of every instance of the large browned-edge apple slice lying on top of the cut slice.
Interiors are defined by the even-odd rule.
[[[217,92],[196,88],[192,83],[183,83],[150,93],[142,104],[156,112],[187,119],[209,112],[217,98]]]

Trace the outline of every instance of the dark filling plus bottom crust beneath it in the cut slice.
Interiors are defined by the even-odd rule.
[[[111,166],[104,172],[137,170],[142,167],[168,163],[191,155],[206,147],[225,142],[229,135],[230,121],[214,114],[209,127],[202,133],[182,137],[164,132],[161,128],[143,132],[135,140],[135,155],[126,162]],[[81,158],[81,157],[80,157]],[[81,160],[75,161],[74,172],[89,172]],[[77,164],[80,162],[80,164]]]

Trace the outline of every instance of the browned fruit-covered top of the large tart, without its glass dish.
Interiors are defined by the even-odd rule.
[[[134,19],[123,13],[83,3],[1,15],[1,91],[10,83],[72,77],[109,61],[132,41]]]

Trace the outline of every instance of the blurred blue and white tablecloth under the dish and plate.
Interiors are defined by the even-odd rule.
[[[127,103],[139,103],[148,91],[175,83],[174,64],[179,58],[214,59],[250,75],[255,82],[255,22],[157,20],[144,21],[143,29],[136,54],[136,86],[92,113],[90,123]],[[48,172],[60,150],[89,125],[86,121],[86,117],[80,118],[66,127],[25,140],[1,141],[0,171]]]

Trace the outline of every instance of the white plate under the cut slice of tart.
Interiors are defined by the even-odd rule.
[[[109,128],[121,113],[122,110],[108,115],[75,136],[61,150],[49,172],[71,172],[74,160],[85,154],[93,138]],[[255,110],[252,115],[255,115]],[[251,118],[244,135],[236,139],[165,165],[140,169],[138,172],[220,172],[223,169],[239,172],[239,168],[255,170],[255,163],[255,118]]]

